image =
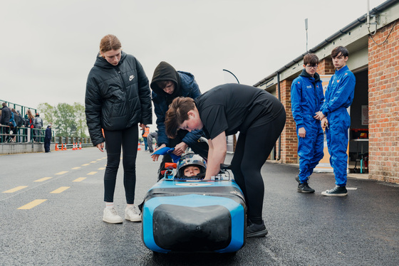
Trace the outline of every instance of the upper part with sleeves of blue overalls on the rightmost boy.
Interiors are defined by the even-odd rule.
[[[341,107],[348,108],[353,102],[355,95],[356,78],[349,70],[348,66],[344,66],[331,77],[330,83],[326,90],[326,101],[320,111],[327,116],[330,112],[334,112]]]

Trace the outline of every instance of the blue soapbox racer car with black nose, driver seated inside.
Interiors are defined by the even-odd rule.
[[[154,252],[236,252],[247,238],[247,206],[241,189],[224,171],[203,181],[205,161],[197,154],[167,165],[142,204],[142,240]],[[183,176],[184,166],[202,166]],[[202,177],[201,177],[202,176]]]

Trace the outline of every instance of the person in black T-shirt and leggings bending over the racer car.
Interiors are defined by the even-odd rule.
[[[227,153],[226,136],[240,132],[231,169],[247,202],[249,238],[267,234],[262,219],[261,167],[285,122],[284,106],[276,97],[265,90],[239,84],[219,85],[195,100],[178,97],[166,113],[165,129],[169,137],[175,137],[180,129],[189,132],[202,129],[207,136],[209,152],[204,180],[219,174]]]

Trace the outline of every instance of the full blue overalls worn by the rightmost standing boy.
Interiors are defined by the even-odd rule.
[[[346,186],[348,169],[348,129],[351,117],[346,110],[353,102],[356,78],[345,65],[331,77],[326,90],[326,101],[321,112],[328,119],[326,128],[328,153],[337,186]]]

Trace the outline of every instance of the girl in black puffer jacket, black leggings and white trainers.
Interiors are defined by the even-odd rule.
[[[122,147],[123,184],[127,201],[125,219],[140,222],[140,210],[134,205],[135,164],[138,124],[144,128],[152,123],[150,87],[140,62],[122,51],[122,45],[114,35],[104,36],[100,41],[100,53],[88,74],[85,102],[92,142],[102,152],[104,142],[107,147],[103,221],[123,223],[113,203]]]

